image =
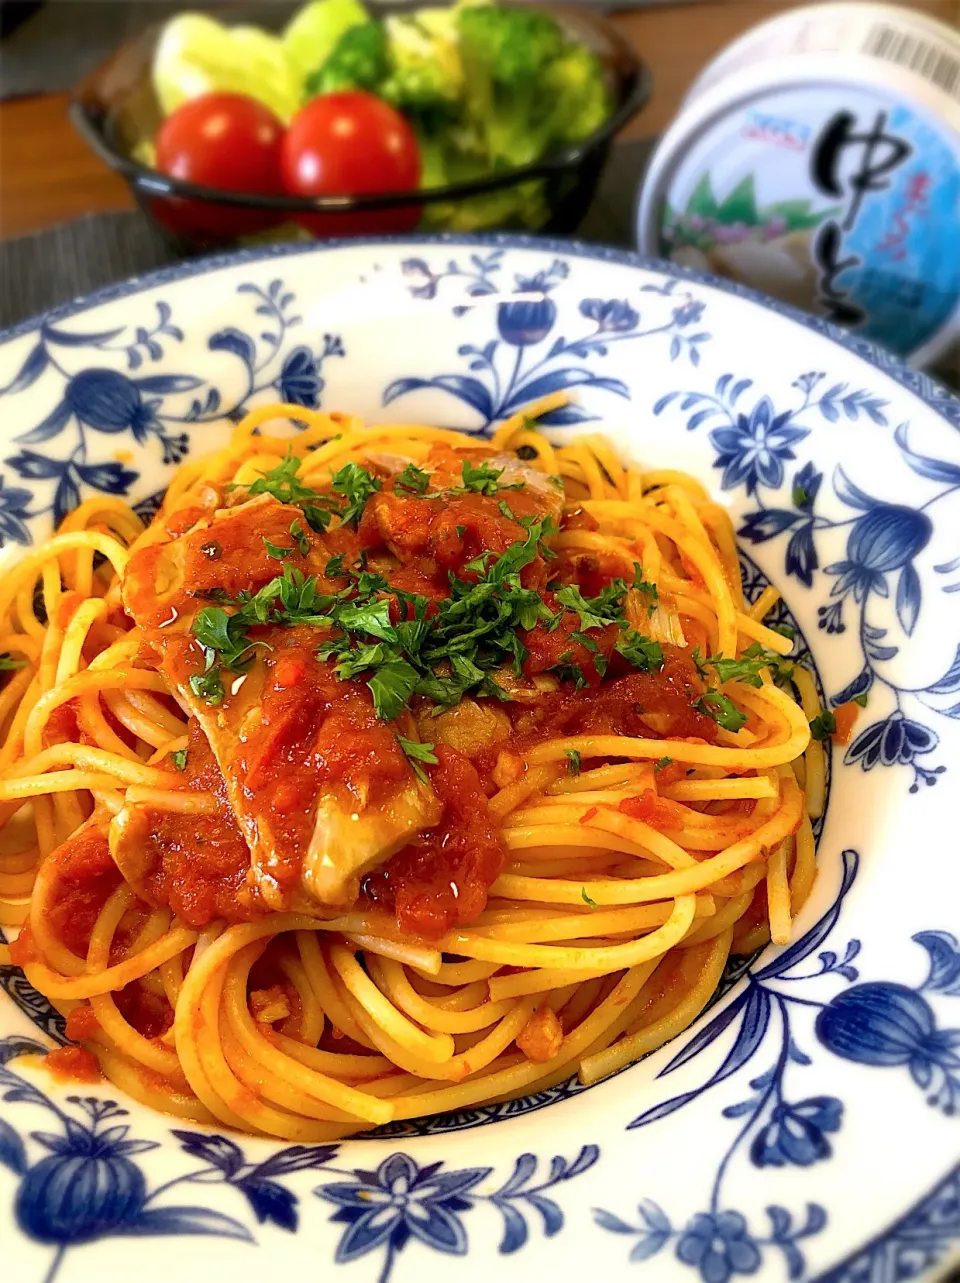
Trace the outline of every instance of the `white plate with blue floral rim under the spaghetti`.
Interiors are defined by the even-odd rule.
[[[321,1147],[221,1135],[13,1057],[59,1020],[0,967],[0,1265],[357,1283],[893,1283],[960,1251],[960,403],[821,322],[548,241],[281,246],[186,263],[0,336],[3,556],[83,494],[149,512],[263,400],[484,434],[553,414],[730,507],[833,704],[796,943],[590,1091]],[[159,1239],[163,1238],[163,1243]]]

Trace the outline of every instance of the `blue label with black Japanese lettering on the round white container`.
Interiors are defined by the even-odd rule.
[[[660,251],[902,355],[960,316],[960,139],[880,92],[803,89],[719,118],[676,166]]]

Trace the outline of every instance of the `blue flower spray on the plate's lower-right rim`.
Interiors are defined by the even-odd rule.
[[[930,1003],[933,994],[960,997],[960,944],[954,935],[948,931],[914,935],[929,958],[927,978],[915,989],[886,980],[857,983],[859,970],[852,965],[860,955],[856,939],[847,943],[842,956],[823,949],[815,970],[802,967],[837,925],[859,863],[856,852],[843,853],[843,880],[827,913],[771,962],[750,973],[737,997],[690,1038],[658,1076],[689,1064],[733,1030],[733,1042],[719,1067],[701,1087],[646,1110],[629,1124],[635,1129],[669,1117],[705,1092],[741,1075],[757,1053],[770,1042],[776,1046],[779,1039],[773,1064],[748,1080],[750,1096],[723,1110],[725,1119],[738,1120],[741,1125],[716,1168],[706,1211],[694,1212],[681,1229],[674,1229],[666,1212],[649,1198],[638,1206],[638,1224],[606,1209],[594,1210],[594,1219],[603,1229],[635,1238],[630,1260],[646,1261],[674,1243],[676,1259],[694,1268],[702,1283],[728,1283],[735,1274],[756,1274],[764,1262],[764,1250],[773,1247],[783,1255],[788,1278],[802,1277],[806,1264],[798,1243],[824,1229],[827,1209],[809,1203],[802,1221],[797,1223],[787,1207],[771,1203],[766,1209],[769,1233],[760,1234],[750,1228],[739,1210],[725,1206],[723,1198],[732,1161],[744,1147],[755,1168],[810,1168],[830,1159],[839,1141],[842,1101],[836,1096],[793,1101],[785,1094],[789,1067],[812,1064],[797,1042],[793,1028],[797,1010],[816,1010],[814,1034],[834,1056],[877,1069],[906,1069],[930,1106],[947,1117],[956,1114],[960,1028],[941,1028]],[[733,960],[732,966],[735,971],[742,970],[739,960]],[[809,997],[810,981],[824,976],[837,976],[850,988],[828,1001]],[[791,984],[802,984],[803,993],[783,988]]]

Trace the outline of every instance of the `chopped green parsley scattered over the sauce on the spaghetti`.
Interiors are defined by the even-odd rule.
[[[466,471],[465,476],[488,485],[489,476],[475,476],[484,468]],[[282,476],[268,484],[302,499],[295,468],[281,464],[281,471]],[[354,522],[380,482],[366,468],[348,463],[334,477],[334,486],[347,504],[339,513],[341,520]],[[524,538],[499,557],[485,552],[474,558],[463,571],[470,579],[450,574],[449,597],[433,603],[367,571],[362,553],[354,565],[348,565],[343,554],[327,561],[326,577],[344,581],[339,591],[323,591],[316,576],[295,570],[289,562],[282,574],[257,593],[230,598],[218,591],[213,604],[199,611],[191,626],[204,657],[203,672],[190,680],[193,693],[209,704],[222,703],[223,674],[246,672],[257,649],[270,649],[254,631],[262,626],[305,625],[327,630],[317,645],[317,658],[332,665],[341,680],[363,680],[375,712],[384,721],[398,717],[415,695],[430,699],[438,706],[436,712],[457,704],[466,694],[511,699],[497,672],[510,667],[520,676],[527,658],[522,635],[538,625],[557,627],[563,611],[576,616],[580,629],[574,640],[590,653],[601,677],[607,670],[607,657],[597,636],[589,633],[598,626],[617,627],[617,650],[634,667],[646,672],[660,667],[664,662],[660,644],[626,622],[624,602],[629,589],[624,580],[616,580],[594,598],[585,598],[576,586],[560,588],[554,598],[560,609],[548,606],[536,589],[524,586],[521,572],[538,557],[545,557],[549,549],[544,540],[556,526],[549,517],[524,518],[521,523]],[[298,522],[291,525],[290,535],[298,547],[300,538],[307,538]],[[580,690],[587,686],[587,677],[572,661],[574,652],[565,653],[554,672]]]

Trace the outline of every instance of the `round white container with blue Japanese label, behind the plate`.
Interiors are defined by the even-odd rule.
[[[747,32],[657,148],[637,236],[960,382],[960,31],[824,4]]]

